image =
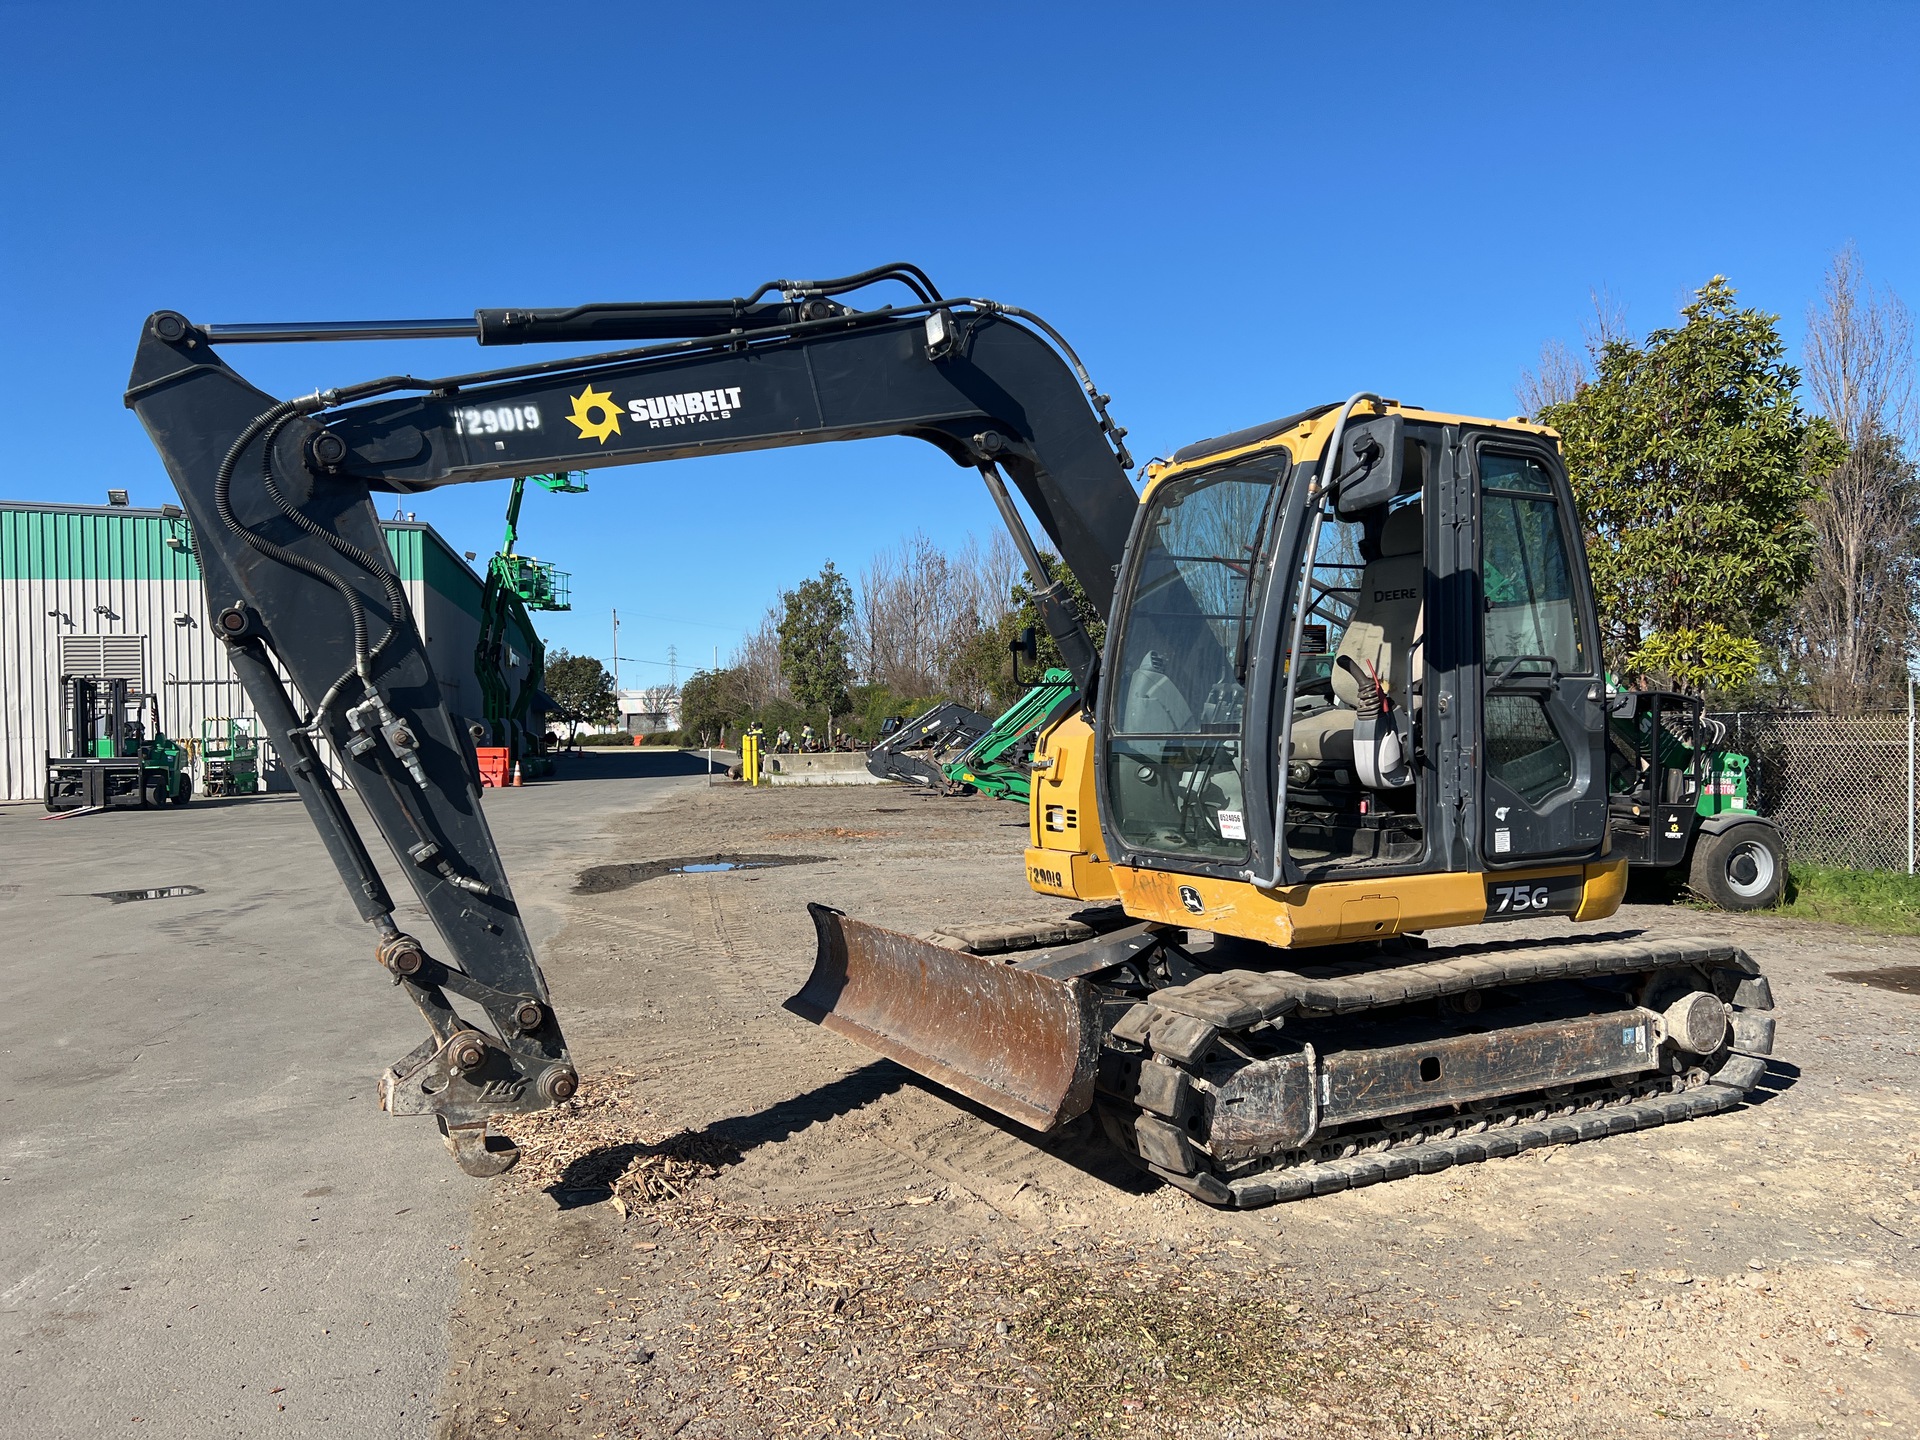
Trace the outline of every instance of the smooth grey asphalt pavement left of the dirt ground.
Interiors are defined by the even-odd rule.
[[[697,768],[588,753],[486,795],[536,947],[605,820]],[[378,1112],[424,1031],[300,801],[0,806],[0,1428],[428,1434],[484,1181]]]

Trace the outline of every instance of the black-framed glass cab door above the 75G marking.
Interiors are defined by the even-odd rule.
[[[1559,459],[1528,438],[1471,442],[1480,538],[1480,858],[1597,858],[1607,707],[1594,588]]]

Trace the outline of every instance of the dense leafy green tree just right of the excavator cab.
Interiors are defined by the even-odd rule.
[[[1680,319],[1607,340],[1594,378],[1536,419],[1561,432],[1611,666],[1738,689],[1809,580],[1809,476],[1837,436],[1799,407],[1778,315],[1738,307],[1716,275]]]

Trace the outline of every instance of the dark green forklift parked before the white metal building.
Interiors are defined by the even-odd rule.
[[[46,808],[148,810],[186,804],[186,751],[159,728],[159,699],[125,680],[61,676],[65,755],[46,756]]]

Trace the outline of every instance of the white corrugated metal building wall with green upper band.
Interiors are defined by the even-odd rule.
[[[480,580],[430,526],[384,528],[447,707],[474,716]],[[252,716],[213,636],[190,547],[190,526],[159,511],[0,501],[0,801],[42,795],[61,708],[61,636],[144,636],[146,689],[177,739],[198,739],[209,716]]]

